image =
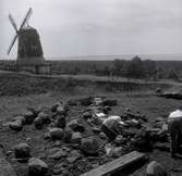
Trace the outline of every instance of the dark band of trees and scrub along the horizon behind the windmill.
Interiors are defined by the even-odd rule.
[[[175,79],[182,75],[181,61],[151,61],[134,56],[113,61],[48,61],[53,75],[119,76],[145,79]],[[15,61],[0,61],[0,70],[16,71]]]

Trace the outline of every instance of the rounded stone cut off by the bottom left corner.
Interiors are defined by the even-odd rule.
[[[0,158],[0,176],[16,176],[12,165],[3,158]]]

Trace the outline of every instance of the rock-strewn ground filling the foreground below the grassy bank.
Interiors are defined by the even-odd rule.
[[[172,176],[182,175],[182,159],[180,155],[170,158],[168,135],[158,134],[168,114],[182,100],[157,97],[154,88],[158,85],[146,88],[145,85],[116,84],[113,89],[111,83],[77,85],[72,79],[48,81],[47,78],[25,79],[25,76],[14,75],[9,75],[8,79],[1,75],[1,78],[0,151],[17,176],[27,176],[29,171],[35,175],[37,169],[44,175],[78,176],[132,150],[145,152],[148,161],[118,175],[144,176],[147,163],[154,160]],[[107,143],[101,148],[106,137],[100,131],[100,122],[89,116],[90,112],[98,113],[95,105],[90,106],[89,97],[111,100],[112,104],[105,104],[111,109],[109,114],[120,115],[129,124],[111,146]],[[69,108],[68,111],[64,108]],[[64,125],[59,125],[64,124],[62,113],[66,120],[64,130]],[[94,144],[85,147],[82,144],[85,140]]]

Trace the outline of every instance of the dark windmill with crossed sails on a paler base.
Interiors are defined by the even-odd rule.
[[[50,68],[48,68],[48,65],[45,63],[39,35],[35,28],[28,25],[28,20],[32,13],[33,10],[29,8],[20,28],[17,28],[13,16],[9,14],[10,23],[15,29],[15,36],[8,49],[8,54],[11,52],[11,49],[17,39],[19,68],[34,73],[47,72]]]

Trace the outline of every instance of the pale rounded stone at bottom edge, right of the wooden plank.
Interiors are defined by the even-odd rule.
[[[153,161],[147,165],[146,174],[147,176],[167,176],[165,168],[156,161]]]

